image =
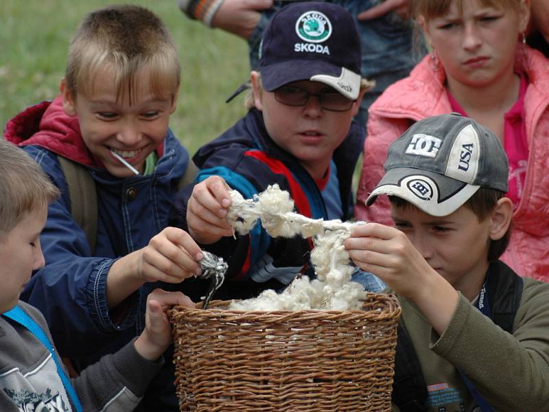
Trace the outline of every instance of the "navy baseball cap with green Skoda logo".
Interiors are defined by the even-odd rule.
[[[304,1],[285,5],[272,16],[259,46],[258,70],[266,91],[312,80],[356,100],[361,61],[351,14],[333,3]]]

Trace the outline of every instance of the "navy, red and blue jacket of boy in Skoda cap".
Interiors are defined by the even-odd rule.
[[[351,183],[364,135],[364,128],[353,122],[349,135],[332,157],[339,182],[339,194],[335,196],[339,196],[344,211],[340,216],[342,220],[352,216]],[[328,218],[325,200],[314,179],[295,157],[274,144],[266,131],[261,112],[255,108],[220,137],[202,146],[193,160],[201,169],[197,181],[211,175],[222,176],[244,198],[252,198],[254,194],[266,190],[268,185],[277,183],[281,190],[290,192],[299,213],[312,218]],[[174,198],[171,225],[187,229],[185,216],[191,191],[192,187],[187,187]],[[283,288],[291,279],[281,282],[282,273],[293,276],[308,272],[312,275],[312,271],[308,271],[310,247],[310,240],[299,237],[270,238],[261,225],[256,225],[249,236],[237,236],[237,240],[222,238],[205,247],[229,262],[228,281],[215,293],[215,297],[246,299],[266,288]],[[255,270],[258,266],[268,266],[268,274],[258,275]],[[187,293],[200,295],[204,289],[200,292],[187,290]]]

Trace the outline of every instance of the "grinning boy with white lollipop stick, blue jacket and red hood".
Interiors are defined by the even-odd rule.
[[[61,192],[40,236],[45,266],[21,297],[44,314],[60,354],[78,369],[143,330],[154,288],[174,290],[200,273],[198,245],[167,227],[189,164],[168,128],[179,83],[176,47],[159,18],[135,5],[108,6],[89,13],[73,37],[61,95],[6,126],[5,138],[23,146]],[[73,218],[78,198],[69,197],[63,158],[93,179],[95,251]],[[145,410],[161,411],[164,402],[178,409],[173,365],[165,367],[172,371],[154,379]]]

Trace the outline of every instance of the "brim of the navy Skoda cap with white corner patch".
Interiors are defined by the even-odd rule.
[[[299,80],[312,80],[333,87],[351,100],[357,100],[360,93],[360,74],[329,62],[293,59],[259,67],[259,71],[266,91],[274,91]]]

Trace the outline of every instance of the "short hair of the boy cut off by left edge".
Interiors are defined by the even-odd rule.
[[[23,149],[0,139],[0,241],[27,213],[48,205],[59,190]]]

